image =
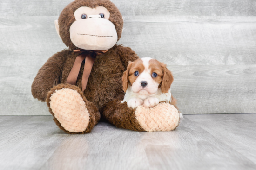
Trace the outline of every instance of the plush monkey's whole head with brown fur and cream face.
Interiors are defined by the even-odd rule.
[[[109,0],[75,0],[63,9],[55,27],[70,50],[108,50],[121,38],[123,19]]]

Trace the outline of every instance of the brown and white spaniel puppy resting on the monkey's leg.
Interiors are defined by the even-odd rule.
[[[171,95],[173,75],[153,58],[139,58],[128,64],[122,76],[124,100],[128,107],[154,107],[159,102],[168,102],[176,107],[176,99]],[[177,107],[176,107],[177,108]]]

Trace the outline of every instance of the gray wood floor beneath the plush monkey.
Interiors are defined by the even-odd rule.
[[[101,122],[68,135],[51,116],[0,116],[1,170],[253,170],[256,114],[184,115],[170,132]]]

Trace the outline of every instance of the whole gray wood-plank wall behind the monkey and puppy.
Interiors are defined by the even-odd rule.
[[[0,0],[0,115],[50,115],[31,84],[66,48],[54,20],[72,0]],[[256,113],[256,0],[112,0],[118,44],[168,64],[185,114]]]

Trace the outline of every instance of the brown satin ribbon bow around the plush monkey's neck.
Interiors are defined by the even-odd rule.
[[[67,77],[67,83],[72,85],[76,84],[77,76],[79,74],[81,64],[85,59],[84,71],[82,76],[82,90],[84,91],[86,89],[88,78],[90,76],[95,58],[98,55],[104,54],[107,51],[108,50],[104,50],[104,51],[103,50],[83,50],[83,49],[74,50],[74,53],[80,53],[80,54],[76,57],[74,61],[74,65]]]

